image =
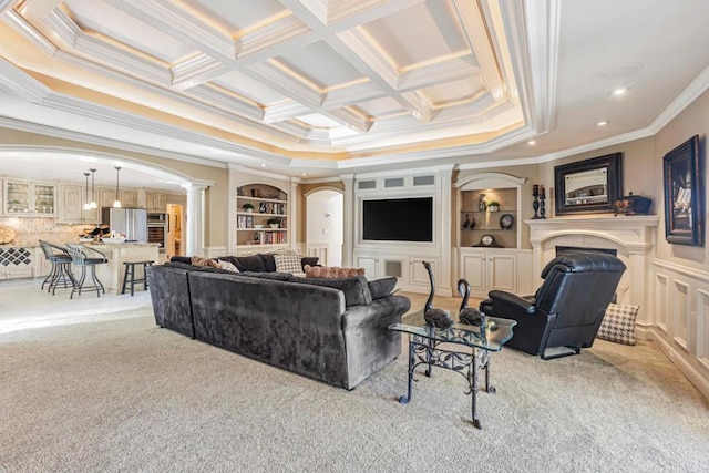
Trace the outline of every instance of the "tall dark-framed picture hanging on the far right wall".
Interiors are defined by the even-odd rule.
[[[665,238],[677,245],[705,246],[705,176],[699,136],[695,135],[664,157]]]

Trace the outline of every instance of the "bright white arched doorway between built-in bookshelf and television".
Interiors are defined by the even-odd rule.
[[[306,195],[306,248],[323,266],[342,265],[343,196],[339,189],[317,189]]]

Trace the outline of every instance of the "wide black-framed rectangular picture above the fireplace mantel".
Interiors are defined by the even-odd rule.
[[[613,212],[623,195],[621,158],[614,153],[554,167],[556,215]],[[545,198],[542,187],[540,198]]]

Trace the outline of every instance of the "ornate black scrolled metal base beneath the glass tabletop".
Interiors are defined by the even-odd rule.
[[[482,429],[480,419],[477,419],[477,391],[480,389],[480,371],[485,370],[485,391],[495,392],[495,388],[490,384],[490,351],[470,347],[471,352],[444,350],[439,348],[432,338],[409,335],[409,388],[407,395],[399,398],[399,402],[408,404],[411,401],[411,390],[414,381],[413,377],[415,368],[420,364],[427,364],[425,376],[431,377],[432,367],[445,368],[462,374],[467,379],[469,391],[465,394],[472,395],[471,414],[473,425]]]

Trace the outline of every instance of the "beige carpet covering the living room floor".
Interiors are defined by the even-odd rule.
[[[709,471],[709,402],[647,342],[494,354],[482,431],[460,374],[419,376],[401,405],[403,356],[348,392],[147,308],[0,335],[0,472]]]

